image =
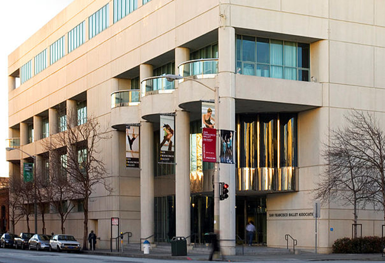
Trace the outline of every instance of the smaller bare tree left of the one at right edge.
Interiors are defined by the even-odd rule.
[[[348,130],[330,131],[330,142],[322,156],[327,162],[321,174],[315,198],[322,202],[341,201],[353,206],[354,237],[357,237],[358,209],[363,209],[373,197],[373,180],[367,176],[366,162],[356,158],[344,142]]]

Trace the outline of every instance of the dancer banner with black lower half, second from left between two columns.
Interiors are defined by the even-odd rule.
[[[159,162],[174,163],[174,116],[160,115]]]

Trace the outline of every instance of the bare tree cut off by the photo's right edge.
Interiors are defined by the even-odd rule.
[[[347,170],[351,170],[351,176],[354,178],[355,188],[352,189],[362,191],[357,194],[357,201],[362,203],[371,201],[374,207],[380,207],[385,220],[384,130],[375,116],[367,112],[352,110],[345,119],[347,125],[333,131],[331,141],[337,141],[335,146],[345,155],[343,162],[349,167]],[[331,169],[328,180],[332,181],[333,176],[338,174],[331,174],[337,172],[332,170],[333,166],[328,169]],[[353,184],[350,183],[350,186]],[[341,191],[338,194],[341,194]],[[366,200],[363,201],[364,199]]]

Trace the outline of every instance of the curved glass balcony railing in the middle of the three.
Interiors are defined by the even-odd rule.
[[[157,93],[171,93],[175,89],[173,81],[167,81],[164,76],[151,77],[141,82],[142,97]]]

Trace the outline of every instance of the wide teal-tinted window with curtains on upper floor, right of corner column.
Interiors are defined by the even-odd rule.
[[[310,45],[237,35],[238,74],[309,81]]]

